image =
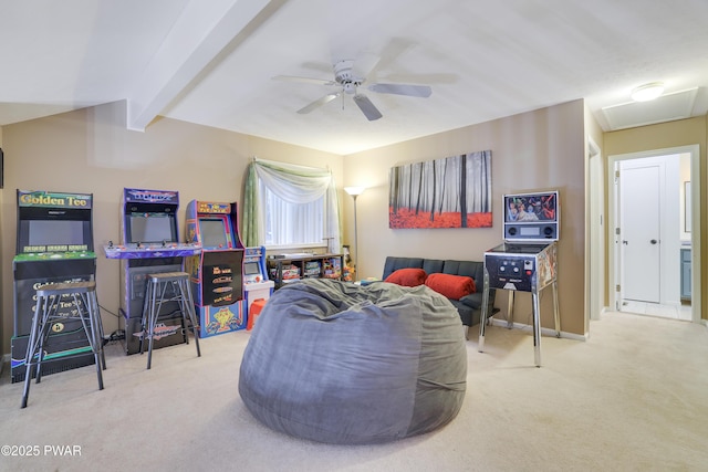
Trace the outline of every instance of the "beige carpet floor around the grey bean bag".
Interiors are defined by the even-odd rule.
[[[478,327],[467,396],[452,422],[381,445],[330,445],[272,431],[238,394],[250,333],[146,356],[107,346],[95,368],[33,384],[0,377],[2,471],[705,471],[708,328],[626,313],[593,321],[587,340]]]

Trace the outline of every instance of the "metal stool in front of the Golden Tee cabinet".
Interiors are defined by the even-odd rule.
[[[71,297],[73,303],[72,308],[71,311],[63,310],[60,312],[62,300],[66,300],[65,297]],[[34,367],[37,367],[37,382],[39,384],[42,379],[44,343],[49,337],[53,323],[58,319],[81,319],[86,339],[94,354],[96,375],[98,377],[98,390],[103,390],[103,375],[101,370],[106,368],[106,358],[103,353],[103,323],[101,321],[101,313],[98,312],[96,283],[91,281],[48,284],[37,291],[37,305],[34,307],[32,328],[30,329],[30,339],[24,357],[27,371],[24,375],[24,391],[22,392],[21,408],[27,407]]]

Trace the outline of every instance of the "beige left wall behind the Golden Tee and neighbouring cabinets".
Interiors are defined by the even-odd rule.
[[[12,259],[15,253],[15,189],[94,195],[94,244],[97,253],[97,295],[102,306],[117,313],[119,262],[103,255],[103,244],[121,240],[121,198],[125,187],[178,190],[179,231],[187,203],[194,199],[242,200],[246,167],[263,159],[329,167],[343,180],[337,155],[268,139],[160,119],[146,133],[125,128],[125,105],[86,108],[53,117],[4,126],[4,189],[2,206],[2,345],[10,352],[13,327]],[[184,238],[181,238],[184,239]],[[103,312],[105,331],[117,318]]]

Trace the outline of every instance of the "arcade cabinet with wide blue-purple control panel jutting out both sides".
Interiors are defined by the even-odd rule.
[[[178,242],[179,192],[166,190],[123,190],[121,244],[104,248],[106,258],[121,260],[121,321],[125,329],[126,354],[140,352],[142,318],[148,274],[181,272],[184,258],[199,254],[196,243]],[[166,296],[173,296],[166,293]],[[163,304],[160,338],[153,348],[187,340],[186,326],[177,302]]]

